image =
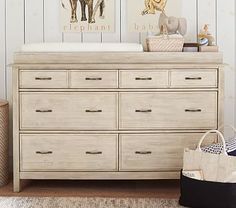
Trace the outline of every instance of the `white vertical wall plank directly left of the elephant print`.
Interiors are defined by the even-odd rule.
[[[44,40],[45,42],[62,42],[60,26],[60,1],[44,0]]]

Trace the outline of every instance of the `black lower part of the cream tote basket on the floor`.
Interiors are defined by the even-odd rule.
[[[179,204],[192,208],[236,208],[236,184],[180,177]]]

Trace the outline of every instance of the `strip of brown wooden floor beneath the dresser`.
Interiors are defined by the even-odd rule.
[[[0,188],[0,196],[20,197],[148,197],[178,198],[178,180],[160,181],[24,181],[13,193],[12,182]]]

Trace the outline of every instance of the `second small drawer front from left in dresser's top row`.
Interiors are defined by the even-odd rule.
[[[118,88],[118,71],[71,71],[71,88]]]

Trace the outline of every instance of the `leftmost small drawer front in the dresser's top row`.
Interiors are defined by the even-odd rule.
[[[20,71],[20,88],[68,88],[66,71]]]

